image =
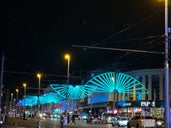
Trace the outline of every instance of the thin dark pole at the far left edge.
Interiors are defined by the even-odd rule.
[[[3,74],[4,74],[4,54],[2,54],[1,62],[1,77],[0,77],[0,122],[2,123],[1,114],[2,114],[2,88],[3,88]],[[1,125],[0,125],[1,126]]]

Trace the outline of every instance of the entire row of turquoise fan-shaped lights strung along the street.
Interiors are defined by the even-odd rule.
[[[66,88],[68,86],[68,93]],[[141,99],[142,94],[148,94],[149,91],[137,79],[124,74],[107,72],[99,74],[90,79],[85,85],[66,85],[66,84],[50,84],[54,92],[46,93],[40,96],[40,104],[60,103],[66,100],[66,94],[69,99],[82,99],[92,95],[94,92],[113,92],[137,94]],[[93,99],[93,102],[100,100],[106,101],[107,96],[103,98]],[[26,96],[20,100],[17,106],[34,106],[37,105],[37,96]]]

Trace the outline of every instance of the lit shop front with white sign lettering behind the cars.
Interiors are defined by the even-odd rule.
[[[129,118],[135,115],[150,115],[157,118],[164,117],[164,102],[163,101],[119,101],[115,102],[118,109],[118,115],[128,116]]]

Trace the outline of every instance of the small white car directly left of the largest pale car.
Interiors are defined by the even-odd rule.
[[[125,116],[120,116],[120,117],[116,117],[112,120],[112,126],[118,126],[118,127],[122,127],[122,126],[127,126],[128,123],[128,117]]]

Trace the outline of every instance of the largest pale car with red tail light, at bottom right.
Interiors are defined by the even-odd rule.
[[[155,119],[152,116],[134,116],[127,123],[127,128],[131,127],[156,127]]]

